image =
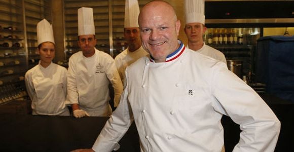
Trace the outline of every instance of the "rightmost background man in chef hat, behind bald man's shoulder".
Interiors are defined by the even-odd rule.
[[[185,0],[186,25],[185,33],[188,38],[187,48],[207,55],[227,64],[225,55],[204,44],[203,34],[206,31],[204,0]]]

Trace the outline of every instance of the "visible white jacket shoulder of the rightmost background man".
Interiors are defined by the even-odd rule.
[[[189,49],[188,45],[187,45],[187,49]],[[222,61],[227,64],[226,57],[222,52],[220,52],[210,46],[207,46],[205,44],[203,44],[203,46],[199,50],[197,50],[196,52],[198,52],[200,54],[207,55],[209,57],[212,57],[218,61]]]

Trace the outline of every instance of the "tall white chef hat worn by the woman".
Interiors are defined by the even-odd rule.
[[[37,40],[38,46],[43,42],[52,42],[55,44],[52,25],[46,19],[43,19],[37,24]]]

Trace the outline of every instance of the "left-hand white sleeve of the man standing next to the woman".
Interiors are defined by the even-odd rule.
[[[77,72],[76,72],[75,60],[71,57],[68,61],[68,72],[67,72],[67,100],[65,104],[79,103],[79,95],[77,89]]]

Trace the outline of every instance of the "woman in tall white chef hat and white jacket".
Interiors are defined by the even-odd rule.
[[[39,64],[25,73],[32,115],[69,116],[65,106],[67,70],[52,62],[55,43],[52,26],[46,19],[37,24],[37,39]]]

